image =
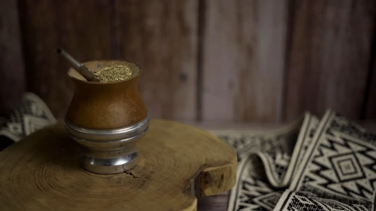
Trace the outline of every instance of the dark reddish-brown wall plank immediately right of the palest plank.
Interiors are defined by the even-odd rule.
[[[374,26],[374,1],[293,1],[285,118],[332,108],[360,117]]]

